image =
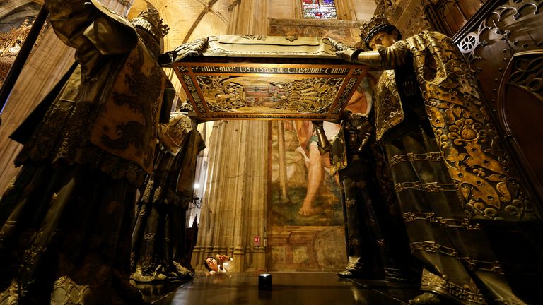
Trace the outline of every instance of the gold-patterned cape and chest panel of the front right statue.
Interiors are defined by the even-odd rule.
[[[424,31],[403,43],[407,44],[405,50],[395,50],[395,45],[387,48],[385,62],[411,52],[426,114],[467,217],[540,219],[509,163],[476,80],[452,40],[439,32]],[[404,119],[394,73],[385,71],[376,90],[378,139]]]

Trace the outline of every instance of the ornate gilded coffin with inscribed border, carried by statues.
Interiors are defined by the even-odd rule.
[[[317,37],[207,37],[160,61],[174,69],[202,121],[337,120],[366,67],[337,58]]]

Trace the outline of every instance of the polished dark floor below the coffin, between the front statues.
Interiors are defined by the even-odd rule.
[[[334,273],[271,273],[272,287],[258,289],[255,273],[197,273],[188,282],[136,285],[148,304],[408,304],[419,294],[414,285],[385,281],[341,280]]]

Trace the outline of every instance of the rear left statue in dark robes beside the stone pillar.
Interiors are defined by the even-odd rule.
[[[136,205],[131,262],[136,282],[186,280],[194,275],[185,257],[186,211],[204,140],[196,122],[182,112],[160,124],[158,139],[155,169]]]

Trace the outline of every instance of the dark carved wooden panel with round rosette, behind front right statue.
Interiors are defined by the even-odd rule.
[[[543,0],[491,1],[454,40],[508,138],[513,161],[543,202],[542,6]]]

